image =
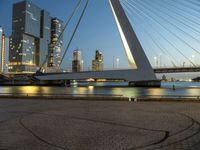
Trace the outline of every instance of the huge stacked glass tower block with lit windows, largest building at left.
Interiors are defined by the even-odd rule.
[[[35,72],[47,57],[51,17],[29,1],[13,5],[9,71]]]

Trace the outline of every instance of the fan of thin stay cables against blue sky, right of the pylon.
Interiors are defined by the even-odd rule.
[[[152,45],[156,46],[156,50],[164,54],[168,60],[171,59],[173,66],[176,66],[175,63],[179,65],[180,59],[176,58],[178,55],[193,67],[197,66],[194,60],[189,58],[188,53],[193,52],[200,56],[200,1],[120,0],[120,2],[134,29],[138,30],[137,35],[140,35],[139,32],[146,34],[148,37],[146,39],[150,40]],[[155,52],[153,49],[151,51]]]

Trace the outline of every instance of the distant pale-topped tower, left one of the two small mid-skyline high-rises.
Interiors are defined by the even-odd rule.
[[[81,58],[81,51],[79,49],[76,49],[73,52],[72,71],[73,72],[83,71],[83,60]]]

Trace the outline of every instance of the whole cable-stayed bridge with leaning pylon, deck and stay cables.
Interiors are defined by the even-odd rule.
[[[86,8],[88,6],[89,0],[87,0],[85,7],[82,11],[82,15],[79,18],[79,21],[77,23],[77,26],[71,36],[71,39],[67,45],[67,48],[65,49],[64,55],[61,59],[61,63],[66,55],[66,52],[69,49],[69,46],[74,38],[74,35],[76,33],[76,30],[81,22],[81,19],[84,16],[84,13],[86,11]],[[162,40],[165,40],[169,47],[173,48],[176,53],[179,53],[180,56],[182,56],[185,61],[187,61],[192,67],[167,67],[167,68],[152,68],[145,52],[144,49],[138,40],[138,37],[136,36],[136,33],[134,32],[134,29],[130,23],[130,17],[127,16],[127,14],[131,14],[133,10],[135,10],[135,15],[134,17],[137,18],[139,21],[141,21],[138,16],[143,15],[145,19],[151,20],[152,22],[155,22],[160,28],[165,30],[165,32],[168,32],[168,34],[171,34],[180,42],[185,44],[186,47],[189,47],[193,52],[200,54],[200,52],[195,48],[193,45],[191,45],[189,42],[187,42],[185,39],[181,38],[179,34],[174,33],[173,31],[170,30],[170,28],[167,28],[165,25],[161,24],[160,21],[158,21],[157,17],[159,17],[159,20],[162,20],[163,22],[165,21],[167,24],[169,24],[171,27],[176,28],[179,30],[182,34],[187,35],[191,39],[200,42],[196,37],[191,35],[190,33],[185,32],[181,27],[177,26],[175,23],[170,22],[166,18],[163,18],[161,15],[155,16],[156,12],[155,10],[151,9],[148,6],[148,2],[146,4],[142,4],[144,2],[140,1],[121,1],[121,0],[109,0],[110,7],[113,13],[113,17],[115,19],[118,32],[122,41],[122,44],[124,46],[124,50],[127,55],[127,60],[129,62],[129,65],[131,69],[127,70],[105,70],[105,71],[97,71],[97,72],[92,72],[92,71],[83,71],[83,72],[71,72],[71,73],[45,73],[45,74],[36,74],[35,78],[41,80],[41,81],[55,81],[55,80],[81,80],[81,79],[123,79],[126,81],[129,81],[130,85],[139,85],[139,86],[159,86],[159,81],[157,80],[155,73],[178,73],[178,72],[200,72],[200,67],[196,65],[194,60],[189,58],[180,48],[178,48],[177,44],[174,42],[170,41],[167,39],[163,34],[155,30],[157,32],[156,34],[159,35]],[[137,3],[137,4],[136,4]],[[157,2],[160,3],[160,2]],[[167,2],[171,7],[173,7],[173,4],[170,2]],[[189,3],[189,2],[188,2]],[[138,5],[138,6],[137,6]],[[180,2],[180,5],[184,5],[183,2]],[[136,7],[137,6],[137,7]],[[191,9],[193,6],[191,6]],[[168,17],[174,17],[170,16],[170,14],[166,14],[164,10],[161,10],[159,7],[157,8],[162,14],[165,14],[165,16]],[[165,7],[165,10],[169,10],[169,8]],[[179,21],[180,24],[183,24],[185,27],[190,28],[190,30],[193,30],[193,32],[199,33],[195,27],[189,25],[191,24],[198,24],[194,20],[191,20],[190,18],[188,19],[186,16],[183,16],[180,11],[181,8],[177,8],[179,11],[174,12],[175,15],[179,15],[182,17],[184,20],[177,20]],[[174,11],[174,9],[172,9]],[[154,13],[154,15],[149,16],[150,13]],[[73,16],[73,15],[72,15]],[[135,19],[134,18],[134,19]],[[70,18],[71,19],[71,18]],[[69,21],[70,21],[69,19]],[[175,19],[175,18],[174,18]],[[68,22],[67,22],[68,23]],[[178,59],[175,58],[175,56],[170,53],[170,51],[166,50],[166,48],[163,48],[158,42],[156,42],[155,37],[153,37],[149,31],[146,30],[145,26],[143,24],[140,25],[143,31],[146,33],[149,39],[152,40],[152,43],[154,46],[156,46],[158,49],[161,50],[161,52],[168,56],[168,59],[172,59],[172,64],[174,62],[177,62]],[[154,27],[152,27],[154,28]],[[193,58],[194,59],[194,58]],[[155,60],[156,64],[158,64],[158,58]],[[160,60],[161,61],[161,60]],[[45,64],[44,62],[43,64]],[[185,62],[184,62],[185,63]],[[42,66],[40,67],[40,70],[42,69]]]

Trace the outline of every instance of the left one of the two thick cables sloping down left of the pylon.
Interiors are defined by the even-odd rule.
[[[75,6],[74,10],[72,11],[72,13],[71,13],[69,19],[67,20],[67,22],[66,22],[66,24],[65,24],[65,26],[64,26],[64,28],[63,28],[63,30],[61,31],[61,33],[60,33],[60,35],[59,35],[59,37],[58,37],[58,40],[53,44],[53,48],[52,48],[52,49],[54,49],[55,46],[58,44],[58,42],[61,40],[61,37],[62,37],[64,31],[65,31],[66,28],[68,27],[68,25],[69,25],[69,23],[71,22],[73,16],[76,14],[76,12],[78,11],[78,9],[80,8],[81,2],[82,2],[82,0],[79,0],[79,1],[78,1],[77,5]],[[48,52],[48,54],[47,54],[45,60],[44,60],[43,63],[40,65],[40,68],[38,69],[39,72],[41,72],[42,67],[43,67],[44,64],[48,61],[48,58],[49,58],[50,55],[51,55],[51,53]]]

